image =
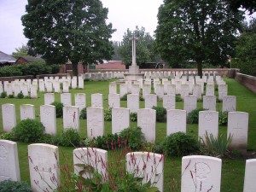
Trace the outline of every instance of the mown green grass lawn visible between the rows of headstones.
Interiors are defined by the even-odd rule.
[[[256,150],[256,143],[254,142],[256,135],[256,96],[251,90],[238,84],[234,79],[225,79],[228,84],[228,95],[236,96],[236,109],[237,111],[249,113],[249,131],[248,131],[248,146],[249,151]],[[73,95],[75,93],[86,94],[86,106],[90,106],[90,94],[102,93],[104,108],[108,108],[108,84],[110,81],[86,81],[84,82],[84,90],[70,90]],[[216,92],[217,93],[217,92]],[[217,93],[218,94],[218,93]],[[216,95],[217,95],[216,94]],[[55,101],[61,101],[60,94],[55,94]],[[39,107],[44,104],[44,94],[39,93],[38,99],[0,99],[0,104],[13,103],[16,107],[17,123],[20,122],[20,104],[32,104],[36,108],[36,118],[39,119]],[[158,102],[162,106],[162,102]],[[144,103],[140,102],[140,107],[143,108]],[[121,107],[126,107],[126,102],[121,102]],[[198,108],[202,107],[202,102],[198,102]],[[176,108],[183,108],[183,102],[176,102]],[[218,103],[218,110],[221,110],[221,103]],[[2,108],[0,108],[2,114]],[[2,118],[0,119],[0,131],[3,131]],[[131,122],[131,126],[136,126],[137,123]],[[63,127],[62,119],[57,119],[57,134],[61,133]],[[226,135],[226,126],[219,126],[219,134]],[[187,125],[187,132],[198,137],[198,125]],[[111,122],[105,122],[105,133],[111,133]],[[80,135],[86,137],[86,120],[80,120]],[[156,143],[160,143],[166,137],[166,123],[156,124]],[[20,176],[22,181],[30,183],[28,158],[27,158],[27,145],[30,143],[18,143],[19,161],[20,161]],[[73,149],[59,147],[60,164],[73,162]],[[112,160],[113,152],[108,152],[108,160]],[[237,155],[237,158],[224,159],[222,164],[222,192],[241,192],[243,189],[245,159]],[[180,191],[181,184],[181,158],[166,157],[165,169],[165,191]]]

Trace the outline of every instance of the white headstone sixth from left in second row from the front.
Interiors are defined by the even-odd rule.
[[[129,108],[112,108],[112,134],[130,127]]]

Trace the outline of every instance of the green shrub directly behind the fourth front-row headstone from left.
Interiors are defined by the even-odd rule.
[[[140,127],[129,127],[121,131],[119,137],[127,141],[127,146],[132,150],[140,150],[146,143],[145,136]]]

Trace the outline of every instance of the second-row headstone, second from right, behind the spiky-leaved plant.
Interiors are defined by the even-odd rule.
[[[198,118],[198,138],[204,141],[206,134],[210,137],[218,137],[218,112],[216,111],[200,111]]]

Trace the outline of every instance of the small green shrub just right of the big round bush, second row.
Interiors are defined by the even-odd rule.
[[[81,137],[79,135],[79,132],[74,130],[73,128],[68,128],[62,133],[62,140],[61,140],[62,146],[79,147],[80,143],[81,143]]]

